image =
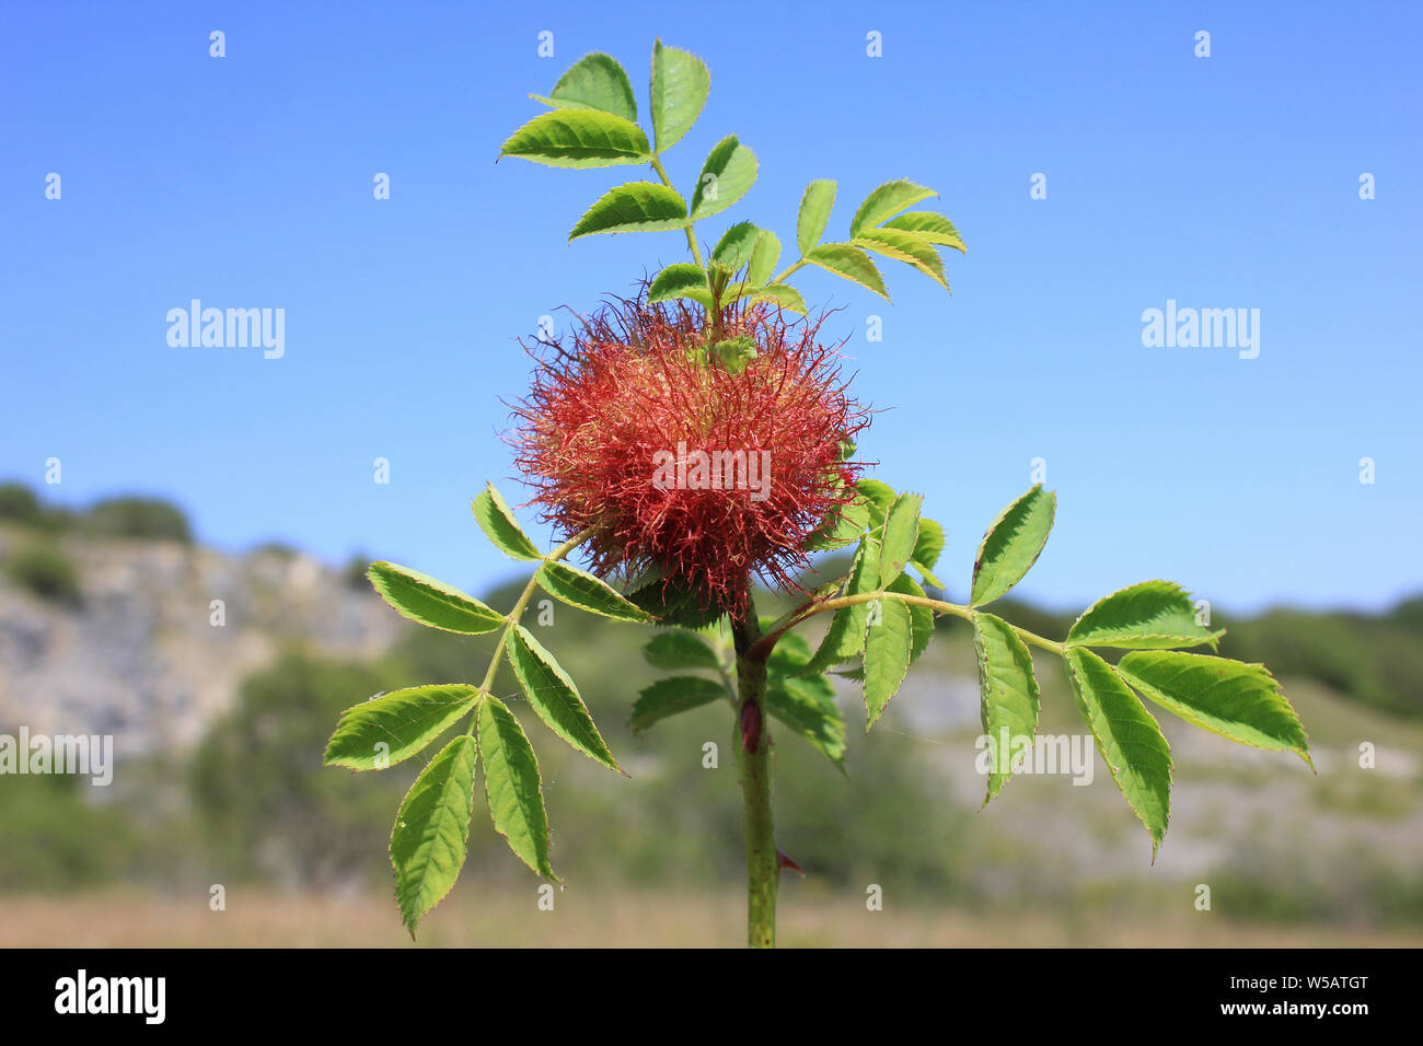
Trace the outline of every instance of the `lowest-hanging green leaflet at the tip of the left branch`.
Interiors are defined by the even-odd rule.
[[[396,870],[400,918],[410,936],[464,868],[478,760],[474,739],[455,737],[430,760],[400,803],[390,833],[390,864]]]

